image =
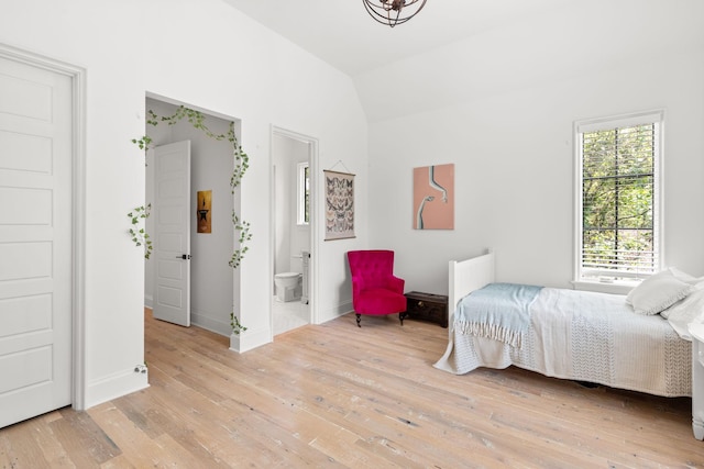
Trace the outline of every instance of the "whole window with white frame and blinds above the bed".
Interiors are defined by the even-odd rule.
[[[628,282],[660,269],[662,112],[575,124],[575,280]]]

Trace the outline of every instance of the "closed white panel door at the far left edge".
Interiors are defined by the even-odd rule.
[[[72,401],[72,79],[0,57],[0,427]]]

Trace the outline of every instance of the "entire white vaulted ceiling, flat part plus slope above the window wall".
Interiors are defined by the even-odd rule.
[[[362,0],[222,0],[349,75],[370,122],[704,47],[702,0],[427,0],[394,29]]]

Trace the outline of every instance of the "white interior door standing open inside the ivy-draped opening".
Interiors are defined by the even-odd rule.
[[[190,326],[190,142],[154,148],[154,317]]]

